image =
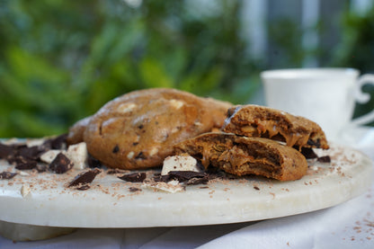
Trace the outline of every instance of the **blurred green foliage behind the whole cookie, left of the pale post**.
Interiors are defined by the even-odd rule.
[[[248,100],[241,1],[190,2],[0,0],[0,138],[66,132],[141,88]]]

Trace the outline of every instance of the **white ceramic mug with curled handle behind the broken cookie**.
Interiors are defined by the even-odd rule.
[[[368,102],[363,84],[374,84],[374,75],[360,76],[353,68],[298,68],[263,71],[266,105],[306,117],[336,140],[344,128],[374,120],[374,111],[352,120],[355,101]]]

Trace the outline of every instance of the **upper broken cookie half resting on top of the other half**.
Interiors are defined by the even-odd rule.
[[[227,111],[223,131],[245,137],[272,138],[289,147],[329,146],[325,132],[311,120],[254,104],[240,105]]]

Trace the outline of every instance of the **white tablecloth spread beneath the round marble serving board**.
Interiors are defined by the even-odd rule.
[[[352,129],[341,143],[374,160],[374,129]],[[374,248],[374,184],[329,209],[258,222],[202,227],[78,229],[68,236],[0,248]]]

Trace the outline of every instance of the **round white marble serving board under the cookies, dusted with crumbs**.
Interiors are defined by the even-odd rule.
[[[324,209],[370,187],[372,165],[367,156],[337,146],[319,152],[331,156],[332,163],[316,163],[298,181],[248,177],[210,182],[204,189],[200,188],[203,185],[187,186],[175,193],[147,188],[130,192],[129,187],[141,188],[141,184],[105,173],[99,174],[87,191],[65,187],[81,172],[77,170],[16,175],[0,182],[0,220],[49,227],[225,224]],[[3,160],[0,172],[11,167]],[[22,194],[24,189],[27,194]]]

